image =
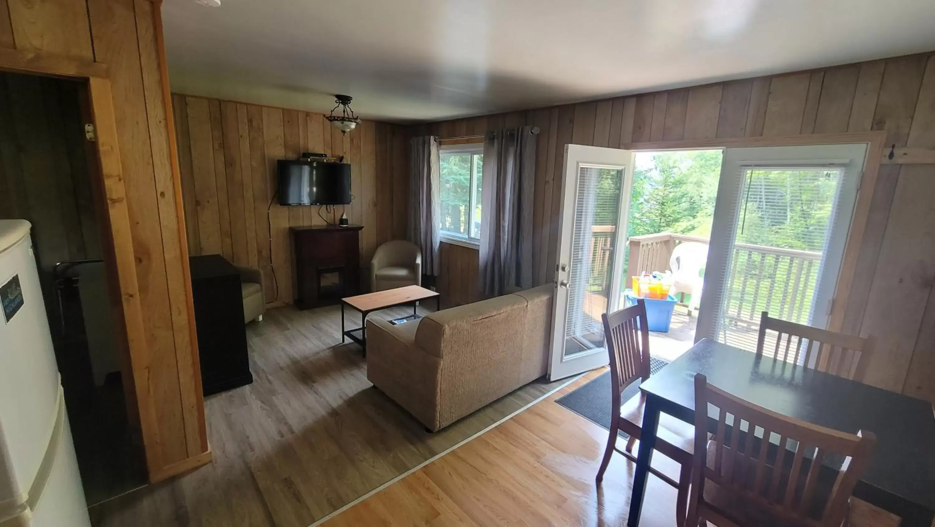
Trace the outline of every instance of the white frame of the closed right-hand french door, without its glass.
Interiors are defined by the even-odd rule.
[[[867,143],[739,147],[724,150],[698,327],[695,332],[696,342],[702,338],[713,340],[717,336],[722,310],[720,304],[726,288],[726,272],[717,270],[730,269],[730,248],[735,242],[740,198],[747,168],[841,169],[841,183],[836,191],[826,247],[823,251],[826,256],[822,258],[822,267],[817,278],[818,288],[813,297],[812,325],[822,329],[827,327],[868,152]]]

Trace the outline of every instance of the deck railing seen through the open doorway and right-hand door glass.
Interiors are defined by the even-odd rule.
[[[683,242],[709,241],[671,232],[631,237],[626,276],[668,270],[672,251]],[[808,323],[821,256],[812,251],[736,243],[722,312],[725,321],[744,329],[758,323],[761,312],[769,311],[785,320]]]

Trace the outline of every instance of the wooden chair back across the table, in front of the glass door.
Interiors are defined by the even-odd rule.
[[[873,337],[861,338],[772,318],[768,312],[760,315],[756,354],[762,355],[767,330],[776,332],[773,356],[776,359],[805,364],[819,372],[831,373],[851,380],[863,381],[873,353]],[[783,344],[783,337],[785,342]],[[793,339],[796,339],[792,345]],[[802,346],[804,344],[804,349]],[[804,354],[804,356],[803,356]],[[799,362],[801,359],[801,362]]]

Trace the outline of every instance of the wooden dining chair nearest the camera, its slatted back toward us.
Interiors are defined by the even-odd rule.
[[[698,411],[709,406],[718,416],[713,434],[709,412]],[[853,435],[776,414],[709,385],[701,373],[695,408],[686,525],[841,527],[876,442],[872,432]],[[844,460],[841,469],[819,476],[832,457]]]

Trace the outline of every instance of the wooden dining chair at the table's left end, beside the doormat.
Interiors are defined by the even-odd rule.
[[[611,433],[604,449],[604,459],[597,470],[597,483],[604,478],[607,465],[611,462],[614,451],[627,460],[636,462],[633,446],[640,439],[642,431],[643,407],[645,395],[641,392],[626,403],[621,402],[624,390],[634,382],[644,381],[650,375],[649,329],[646,318],[646,303],[637,300],[637,305],[627,307],[610,315],[602,315],[604,320],[604,338],[611,359]],[[617,432],[629,434],[626,448],[617,448]],[[688,504],[688,485],[691,481],[692,444],[694,438],[692,426],[688,423],[663,414],[659,418],[656,432],[655,450],[681,465],[678,481],[650,467],[649,471],[678,490],[675,519],[679,527],[683,526]]]

